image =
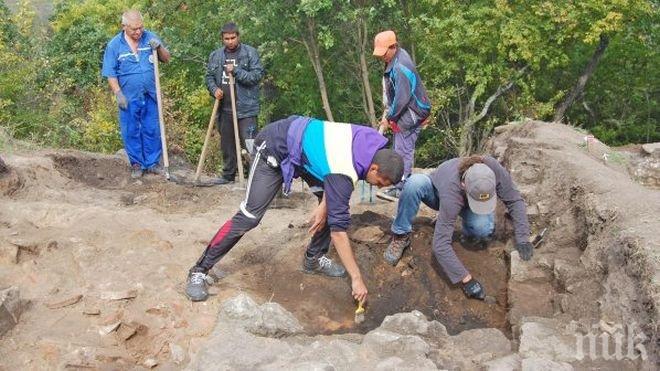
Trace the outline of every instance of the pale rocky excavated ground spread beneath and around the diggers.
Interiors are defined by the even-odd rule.
[[[534,232],[548,228],[532,261],[511,253],[498,209],[487,250],[454,243],[492,296],[466,300],[431,255],[423,209],[412,249],[390,267],[394,206],[359,185],[349,235],[370,303],[356,326],[348,280],[300,271],[316,203],[300,184],[214,269],[214,295],[190,303],[187,269],[241,190],[132,181],[121,156],[10,148],[0,369],[655,369],[658,153],[539,122],[498,128],[489,151],[511,170]]]

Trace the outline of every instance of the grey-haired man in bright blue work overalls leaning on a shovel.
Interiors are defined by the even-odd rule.
[[[162,154],[154,61],[167,63],[170,52],[158,36],[144,29],[142,15],[128,10],[121,17],[122,31],[110,40],[103,56],[103,77],[117,97],[119,125],[126,154],[131,163],[131,177],[146,171],[158,174]]]

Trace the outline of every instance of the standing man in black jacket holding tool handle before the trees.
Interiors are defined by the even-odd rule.
[[[209,56],[206,69],[206,88],[216,99],[222,100],[218,115],[220,150],[223,159],[221,183],[234,181],[238,169],[236,144],[234,141],[233,113],[230,99],[229,74],[236,82],[236,116],[239,137],[244,148],[246,139],[254,139],[257,134],[259,114],[259,81],[264,75],[257,50],[240,42],[238,26],[229,22],[220,31],[223,47]],[[249,150],[249,148],[248,148]]]

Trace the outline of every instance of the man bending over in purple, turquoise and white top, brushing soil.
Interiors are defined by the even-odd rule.
[[[245,199],[190,269],[186,295],[192,301],[206,300],[206,273],[259,224],[282,184],[284,193],[288,193],[293,179],[300,177],[310,189],[316,189],[314,194],[319,198],[309,229],[312,239],[302,259],[303,271],[330,277],[342,277],[348,272],[353,297],[364,302],[367,287],[346,232],[351,224],[349,201],[360,179],[377,187],[401,179],[401,157],[384,149],[387,139],[368,126],[301,116],[267,125],[254,144]],[[330,242],[343,266],[326,256]]]

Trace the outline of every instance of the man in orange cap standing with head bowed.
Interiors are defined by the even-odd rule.
[[[374,38],[373,55],[385,62],[383,73],[383,105],[385,112],[380,121],[382,129],[390,128],[394,133],[394,151],[403,158],[403,180],[379,198],[396,201],[403,183],[412,172],[415,158],[415,143],[421,126],[431,113],[431,103],[407,51],[399,46],[394,31],[387,30]]]

